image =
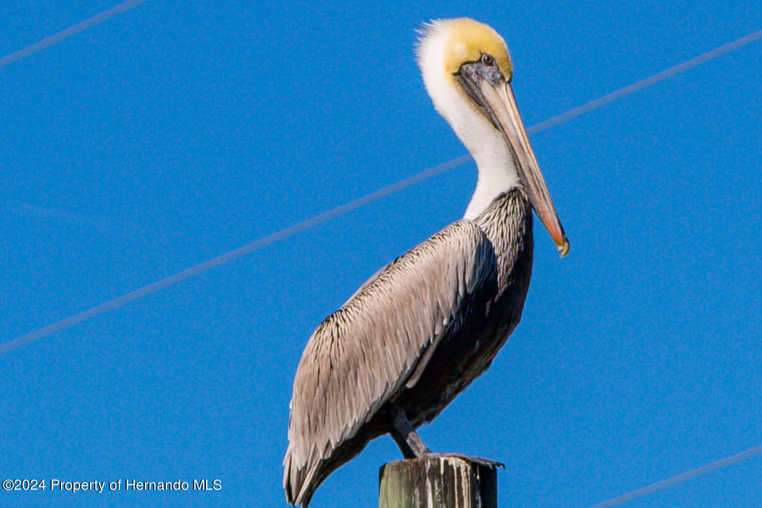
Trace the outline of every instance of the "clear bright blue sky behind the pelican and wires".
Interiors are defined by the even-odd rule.
[[[0,56],[114,2],[5,2]],[[463,155],[416,24],[504,35],[528,126],[762,28],[759,2],[149,0],[0,69],[8,341]],[[538,228],[523,321],[421,429],[505,462],[501,506],[589,506],[762,443],[762,45],[532,137],[571,254]],[[463,215],[464,165],[0,356],[3,478],[219,479],[0,493],[21,506],[285,506],[309,334]],[[319,488],[373,506],[371,443]],[[762,457],[629,506],[757,506]]]

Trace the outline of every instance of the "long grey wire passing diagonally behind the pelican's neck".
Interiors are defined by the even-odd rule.
[[[670,69],[659,72],[658,74],[652,75],[649,78],[645,78],[645,79],[642,79],[641,81],[637,81],[636,83],[626,86],[625,88],[620,88],[620,90],[604,95],[604,97],[600,97],[594,101],[588,102],[587,104],[583,104],[580,107],[575,107],[575,109],[569,110],[566,113],[562,113],[558,115],[557,117],[552,117],[549,120],[538,123],[535,126],[531,126],[529,129],[527,129],[527,133],[534,134],[534,133],[539,133],[540,131],[543,131],[545,129],[549,129],[552,126],[558,125],[559,123],[565,122],[567,120],[571,120],[572,118],[578,117],[579,115],[583,113],[587,113],[588,111],[594,110],[597,107],[603,106],[604,104],[607,104],[611,101],[615,101],[616,99],[620,97],[624,97],[627,94],[632,94],[635,91],[638,91],[642,88],[647,87],[648,85],[653,85],[657,81],[662,81],[666,78],[669,78],[677,74],[678,72],[684,72],[687,69],[690,69],[691,67],[694,67],[710,59],[713,59],[720,55],[728,53],[729,51],[735,50],[741,46],[744,46],[745,44],[751,43],[752,41],[760,39],[760,38],[762,38],[762,30],[758,30],[754,32],[754,34],[750,34],[746,37],[741,37],[740,39],[735,40],[732,43],[725,44],[725,46],[721,46],[717,48],[716,50],[712,50],[712,51],[709,51],[708,53],[704,53],[703,55],[697,56],[694,59],[690,59],[687,62],[683,62],[683,63],[680,63],[679,65],[675,65],[674,67],[671,67]],[[259,240],[253,241],[250,244],[246,244],[243,247],[235,249],[234,251],[230,251],[227,254],[223,254],[213,259],[204,261],[203,263],[197,264],[196,266],[188,268],[187,270],[184,270],[180,273],[175,273],[172,276],[168,276],[165,279],[158,280],[157,282],[149,284],[148,286],[143,286],[142,288],[136,289],[133,292],[128,292],[126,295],[120,296],[117,299],[110,300],[109,302],[102,303],[101,305],[96,305],[95,307],[89,308],[85,312],[80,312],[79,314],[73,315],[62,321],[58,321],[56,323],[49,324],[46,327],[40,328],[40,330],[34,331],[30,334],[23,335],[21,337],[15,338],[14,340],[10,340],[6,343],[0,344],[0,354],[7,353],[10,350],[14,350],[25,343],[30,343],[34,340],[47,337],[50,334],[56,333],[56,331],[60,331],[65,328],[72,327],[73,325],[81,321],[85,321],[85,319],[103,314],[104,312],[108,312],[114,308],[120,307],[126,304],[127,302],[132,302],[133,300],[142,298],[143,296],[149,295],[152,292],[156,292],[159,289],[163,289],[167,286],[170,286],[171,284],[180,282],[181,280],[185,280],[188,277],[205,272],[220,264],[227,263],[228,261],[232,261],[238,257],[244,256],[245,254],[250,253],[251,251],[255,251],[259,248],[264,247],[265,245],[269,245],[271,243],[274,243],[275,241],[279,241],[279,240],[282,240],[283,238],[287,238],[291,235],[296,234],[297,232],[303,231],[306,228],[311,228],[313,225],[318,225],[321,222],[325,222],[328,219],[332,219],[335,216],[338,216],[344,212],[350,211],[351,209],[355,209],[359,206],[372,203],[373,201],[379,200],[384,196],[389,196],[389,194],[395,193],[399,190],[405,189],[406,187],[410,187],[411,185],[418,184],[418,182],[434,177],[437,174],[443,173],[444,171],[447,171],[448,169],[455,168],[456,166],[459,166],[459,165],[463,165],[470,160],[471,160],[470,155],[461,155],[460,157],[455,158],[452,161],[445,162],[442,165],[438,165],[435,168],[431,168],[427,171],[416,174],[415,176],[410,177],[406,180],[399,181],[396,184],[390,185],[389,187],[385,187],[381,190],[376,190],[376,192],[370,193],[367,196],[351,201],[350,203],[346,203],[344,205],[338,206],[335,209],[328,210],[328,212],[323,212],[319,216],[315,216],[315,217],[312,217],[312,219],[307,219],[306,221],[299,222],[298,224],[290,226],[290,228],[285,228],[281,230],[280,232],[274,233],[272,235],[268,235],[264,238],[260,238]]]

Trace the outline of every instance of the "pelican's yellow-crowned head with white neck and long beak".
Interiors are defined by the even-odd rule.
[[[479,216],[498,194],[521,187],[564,257],[569,242],[519,115],[503,38],[469,18],[432,21],[421,29],[417,54],[434,107],[479,168],[466,219]]]

